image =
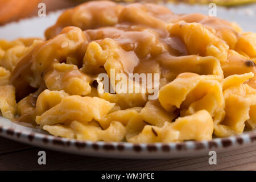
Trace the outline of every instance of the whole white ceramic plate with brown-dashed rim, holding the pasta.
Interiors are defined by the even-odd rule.
[[[208,14],[208,6],[172,5],[167,4],[174,13],[203,13]],[[217,7],[217,16],[222,19],[240,24],[245,31],[256,32],[256,5],[241,9],[225,9]],[[22,20],[10,23],[0,28],[0,39],[13,40],[19,37],[42,37],[44,30],[55,23],[60,11],[43,18]],[[92,155],[113,158],[177,158],[183,156],[207,155],[210,150],[226,151],[234,148],[256,144],[256,131],[248,131],[241,135],[216,138],[211,141],[182,142],[182,143],[154,143],[132,144],[124,142],[89,142],[75,139],[53,137],[46,131],[30,128],[13,123],[0,117],[0,135],[6,138],[28,143],[34,146],[49,148],[57,151],[70,152],[80,155]]]

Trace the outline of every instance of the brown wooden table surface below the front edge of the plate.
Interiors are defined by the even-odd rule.
[[[46,165],[38,164],[38,152],[46,151]],[[217,153],[217,164],[209,156],[133,160],[107,159],[65,154],[0,137],[0,170],[256,170],[256,145]]]

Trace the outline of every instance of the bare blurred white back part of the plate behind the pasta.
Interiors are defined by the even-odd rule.
[[[184,3],[167,3],[163,5],[178,14],[201,13],[208,15],[209,12],[208,5],[187,5]],[[44,31],[56,22],[61,12],[60,10],[49,13],[46,17],[34,17],[6,24],[6,26],[0,27],[0,39],[14,40],[20,37],[44,38]],[[229,9],[217,7],[217,17],[237,22],[245,31],[256,32],[256,4]]]

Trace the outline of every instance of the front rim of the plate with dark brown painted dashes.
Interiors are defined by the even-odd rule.
[[[230,137],[202,141],[170,143],[93,142],[89,140],[55,137],[53,135],[36,133],[35,131],[22,131],[14,127],[4,126],[0,122],[0,135],[18,142],[31,144],[32,146],[73,154],[102,156],[104,152],[108,152],[106,156],[113,158],[174,158],[193,156],[195,155],[194,153],[202,154],[212,150],[227,151],[232,148],[256,144],[256,130],[245,131]],[[142,156],[141,154],[146,155]],[[156,154],[164,155],[155,156]]]

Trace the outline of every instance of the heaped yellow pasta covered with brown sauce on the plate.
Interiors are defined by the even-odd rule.
[[[64,11],[45,35],[1,40],[3,117],[107,142],[210,140],[256,127],[256,34],[236,23],[92,1]],[[110,69],[158,73],[158,98],[100,92],[98,75]]]

